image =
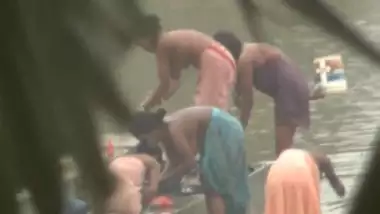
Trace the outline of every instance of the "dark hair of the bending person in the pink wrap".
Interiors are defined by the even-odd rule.
[[[160,18],[157,15],[146,15],[139,19],[133,27],[134,39],[152,38],[155,39],[160,33],[162,27]]]

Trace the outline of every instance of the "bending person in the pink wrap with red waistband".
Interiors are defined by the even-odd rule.
[[[242,49],[240,41],[231,39],[233,45],[223,46],[196,30],[163,32],[156,16],[148,16],[142,22],[150,24],[141,24],[137,28],[135,41],[156,55],[160,81],[157,89],[143,103],[144,109],[149,110],[168,100],[179,88],[182,70],[194,66],[199,70],[195,105],[227,110],[236,79],[235,62]]]

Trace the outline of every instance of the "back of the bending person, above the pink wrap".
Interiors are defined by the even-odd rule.
[[[164,33],[158,46],[167,50],[172,67],[183,69],[193,65],[198,68],[201,54],[214,42],[212,37],[199,31],[181,29]]]

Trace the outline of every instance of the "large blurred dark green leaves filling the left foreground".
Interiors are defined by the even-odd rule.
[[[145,14],[137,0],[5,0],[1,15],[7,28],[0,40],[1,213],[19,213],[21,188],[38,213],[62,213],[65,155],[78,165],[94,213],[104,213],[114,179],[101,157],[93,111],[101,108],[124,131],[131,111],[111,63],[96,58],[93,39],[106,31],[103,42],[124,52],[134,32],[128,23]]]

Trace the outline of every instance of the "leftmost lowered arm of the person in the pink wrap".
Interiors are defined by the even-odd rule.
[[[160,105],[163,97],[170,89],[170,62],[166,48],[158,48],[156,53],[159,85],[147,101],[143,104],[145,110]]]

